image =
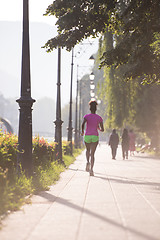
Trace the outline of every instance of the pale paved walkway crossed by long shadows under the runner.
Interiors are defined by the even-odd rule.
[[[10,214],[1,240],[160,240],[160,159],[143,154],[111,159],[96,151],[95,176],[85,172],[85,152],[49,191]]]

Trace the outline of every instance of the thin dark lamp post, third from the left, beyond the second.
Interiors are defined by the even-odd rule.
[[[73,54],[74,51],[72,49],[72,60],[71,60],[71,86],[70,86],[70,103],[69,103],[69,123],[68,123],[68,141],[70,144],[70,154],[72,155],[73,146],[72,146],[72,84],[73,84]]]

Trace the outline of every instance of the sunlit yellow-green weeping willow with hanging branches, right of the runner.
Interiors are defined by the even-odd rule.
[[[113,39],[113,34],[106,32],[101,48],[104,51],[113,49]],[[124,80],[123,74],[127,68],[127,64],[120,66],[118,69],[104,67],[105,79],[99,92],[107,105],[107,108],[105,108],[107,114],[106,125],[109,128],[121,128],[129,122],[132,122],[133,125],[136,81]]]

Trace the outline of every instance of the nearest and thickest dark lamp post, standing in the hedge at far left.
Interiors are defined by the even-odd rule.
[[[32,175],[32,105],[30,84],[30,50],[29,50],[29,6],[28,0],[23,0],[23,42],[22,42],[22,72],[21,97],[16,100],[20,107],[18,132],[18,166],[27,175]]]

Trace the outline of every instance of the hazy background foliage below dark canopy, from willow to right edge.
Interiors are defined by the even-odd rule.
[[[159,35],[156,34],[155,39],[157,40],[152,48],[158,54]],[[113,49],[113,41],[113,34],[106,32],[100,52]],[[106,128],[134,127],[138,131],[146,133],[152,145],[157,148],[160,143],[160,86],[144,85],[141,78],[131,78],[126,81],[123,76],[129,69],[130,64],[124,64],[117,68],[104,67],[105,80],[99,89],[99,96],[104,99],[106,106],[104,108],[107,114],[105,126]]]

